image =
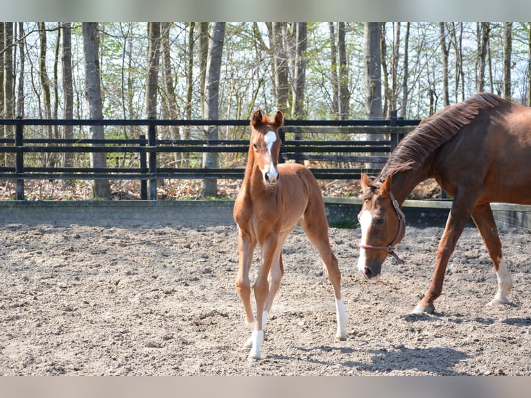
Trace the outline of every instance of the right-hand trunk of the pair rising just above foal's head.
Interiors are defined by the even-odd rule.
[[[295,23],[295,74],[292,96],[291,116],[293,119],[304,119],[304,91],[306,87],[306,47],[308,45],[306,22]]]

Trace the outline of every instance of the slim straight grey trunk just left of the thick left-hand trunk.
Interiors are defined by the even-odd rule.
[[[72,84],[72,32],[71,23],[62,22],[62,91],[63,91],[63,117],[73,119],[73,84]],[[73,139],[73,126],[64,126],[64,138]],[[71,146],[71,144],[67,144]],[[72,153],[64,154],[64,167],[73,166]],[[65,182],[66,184],[67,182]]]

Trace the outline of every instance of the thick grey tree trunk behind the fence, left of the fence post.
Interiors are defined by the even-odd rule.
[[[85,96],[89,104],[89,119],[103,119],[101,101],[100,60],[98,49],[100,38],[97,22],[83,22],[83,53],[85,55]],[[103,139],[103,126],[90,127],[91,139]],[[97,145],[96,145],[97,146]],[[106,167],[105,153],[90,154],[91,167]],[[92,184],[93,198],[109,198],[111,187],[107,180],[94,180]]]

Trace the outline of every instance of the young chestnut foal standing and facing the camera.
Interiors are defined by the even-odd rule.
[[[234,203],[239,257],[236,290],[252,331],[246,344],[251,346],[250,359],[260,358],[263,328],[284,275],[282,245],[297,224],[315,245],[327,268],[336,296],[337,338],[347,338],[340,270],[330,248],[321,190],[308,168],[300,164],[278,164],[281,146],[278,130],[283,124],[284,116],[280,111],[272,119],[260,110],[252,114],[247,168]],[[254,282],[255,318],[251,308],[249,271],[256,244],[261,248],[261,266]]]

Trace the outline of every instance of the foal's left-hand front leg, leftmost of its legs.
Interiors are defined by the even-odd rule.
[[[238,275],[236,275],[236,291],[240,296],[245,309],[247,326],[254,330],[254,315],[251,306],[251,283],[249,271],[252,263],[252,254],[256,248],[256,239],[238,228]]]

